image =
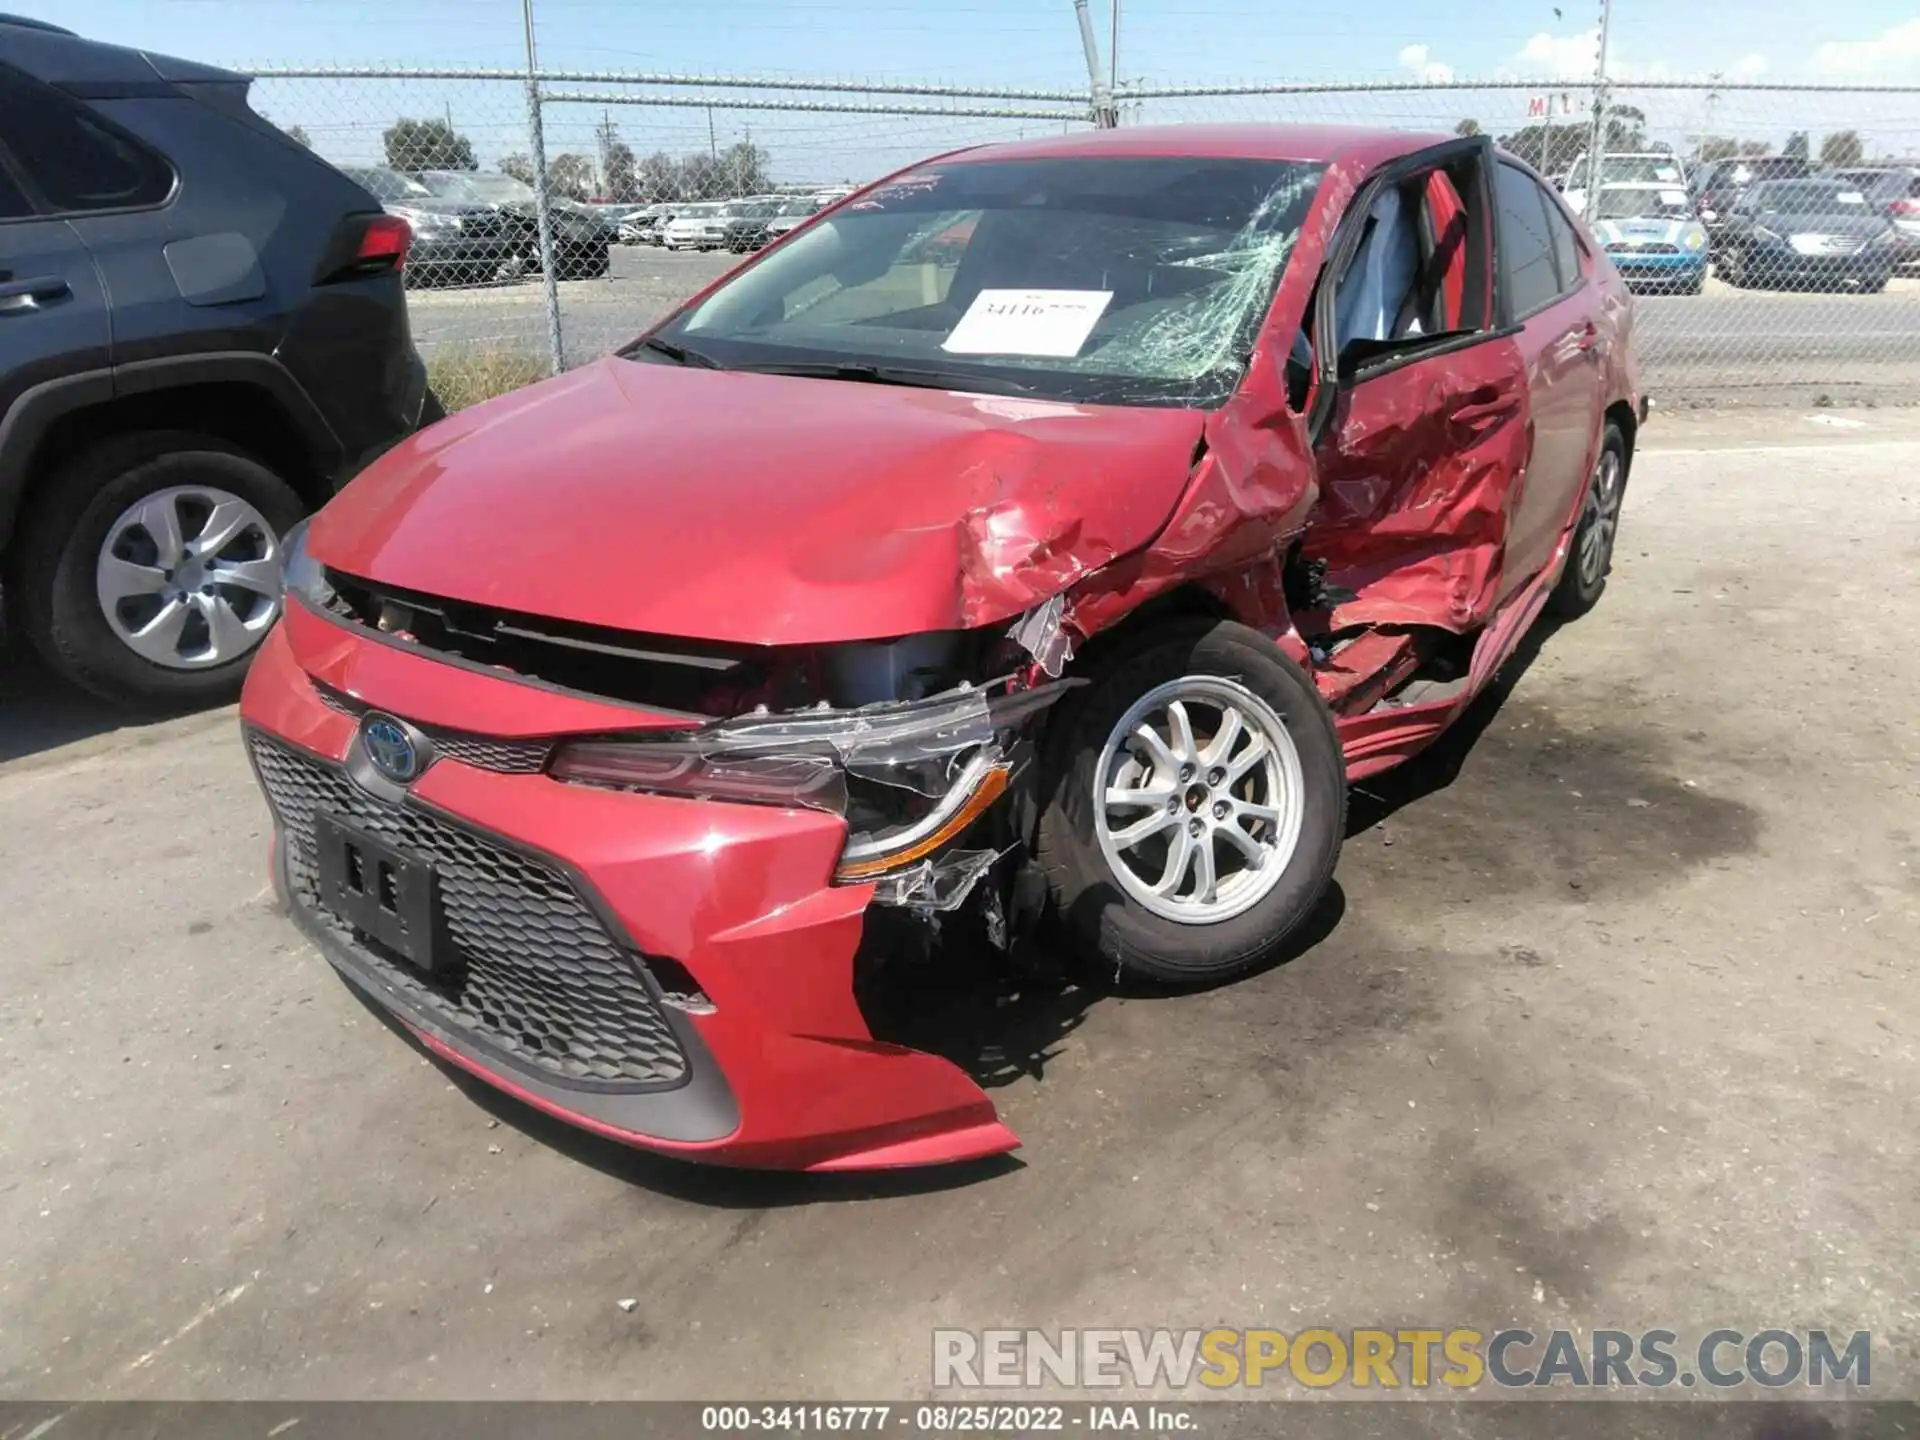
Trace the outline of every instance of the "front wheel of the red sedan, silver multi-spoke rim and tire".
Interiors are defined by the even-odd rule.
[[[1346,831],[1340,741],[1300,666],[1246,626],[1169,626],[1062,720],[1037,856],[1077,945],[1164,985],[1273,960]]]

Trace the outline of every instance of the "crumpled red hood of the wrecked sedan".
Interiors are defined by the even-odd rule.
[[[388,451],[309,545],[363,580],[659,636],[964,630],[1146,545],[1204,420],[605,359]]]

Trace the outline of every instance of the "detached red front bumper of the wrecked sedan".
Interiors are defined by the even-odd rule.
[[[340,776],[338,785],[353,783],[346,764],[357,722],[328,705],[313,678],[420,726],[493,737],[636,722],[597,701],[407,655],[294,605],[253,662],[242,724],[250,747],[290,751]],[[355,793],[344,803],[380,801]],[[486,1014],[453,1014],[444,996],[422,995],[417,972],[344,931],[311,891],[301,893],[290,874],[300,837],[288,831],[305,816],[276,804],[275,868],[300,925],[430,1048],[501,1091],[614,1140],[732,1165],[876,1169],[1018,1146],[960,1068],[876,1041],[868,1029],[852,970],[872,887],[831,883],[839,818],[564,785],[457,758],[434,762],[397,812],[563,876],[603,931],[593,954],[582,962],[578,947],[528,933],[513,945],[495,941],[488,964],[503,973],[524,956],[568,983],[568,968],[618,952],[639,975],[637,987],[620,981],[618,1002],[651,1004],[657,1014],[647,1023],[664,1025],[684,1058],[641,1079],[561,1073],[551,1054],[541,1060],[511,1035],[490,1035]],[[543,910],[520,906],[534,920]],[[668,1000],[649,958],[670,962],[655,970],[689,975],[707,1004]],[[597,995],[605,1006],[607,987]],[[572,1058],[564,1068],[582,1071]]]

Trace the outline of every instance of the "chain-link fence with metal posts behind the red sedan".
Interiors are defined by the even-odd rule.
[[[849,186],[1108,119],[1492,134],[1645,292],[1663,403],[1920,403],[1920,86],[1473,83],[1402,60],[1411,79],[1112,88],[259,69],[255,106],[413,225],[413,330],[449,405],[603,355]]]

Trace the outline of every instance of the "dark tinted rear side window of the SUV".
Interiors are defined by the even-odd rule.
[[[0,146],[56,215],[157,205],[173,171],[52,86],[0,71]]]

